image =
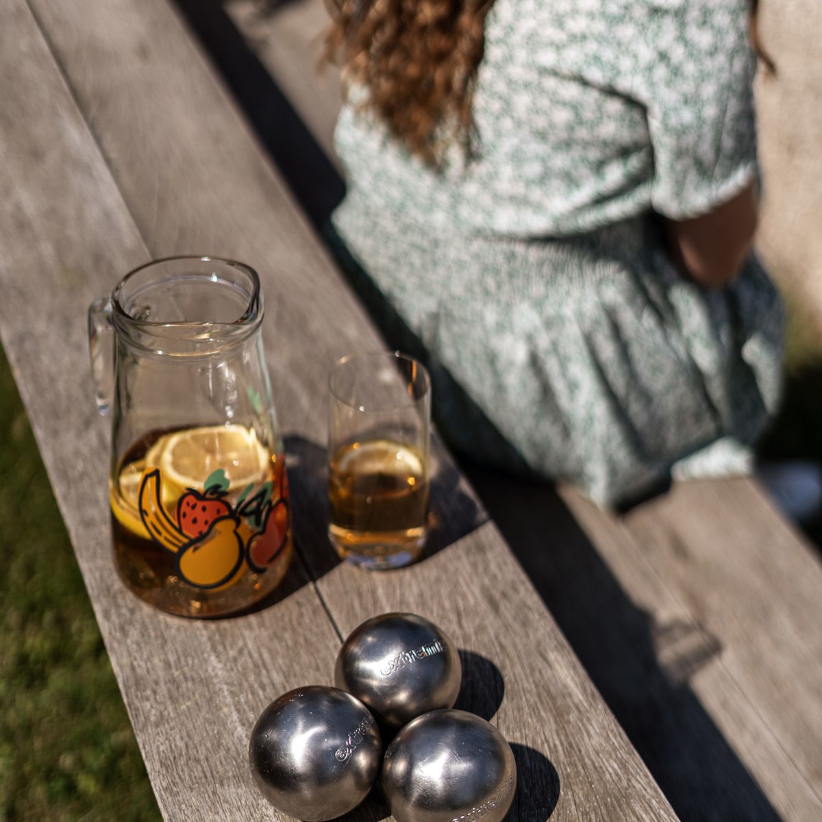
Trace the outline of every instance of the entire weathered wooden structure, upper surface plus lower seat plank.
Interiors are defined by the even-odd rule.
[[[320,3],[226,7],[330,151],[339,101],[333,76],[316,81],[319,25],[307,25],[321,25]],[[218,20],[215,36],[230,34]],[[340,635],[390,608],[426,613],[464,649],[463,699],[515,743],[520,818],[675,818],[597,689],[683,818],[822,818],[822,570],[755,483],[689,483],[615,518],[570,489],[560,501],[473,471],[541,601],[439,449],[441,550],[395,575],[336,565],[325,372],[382,344],[175,7],[7,0],[0,88],[0,337],[167,819],[275,818],[247,774],[256,714],[330,681]],[[299,554],[277,603],[209,624],[150,611],[115,580],[108,432],[86,360],[90,299],[187,252],[261,273]]]

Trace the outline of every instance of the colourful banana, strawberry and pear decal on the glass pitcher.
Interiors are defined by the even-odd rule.
[[[179,575],[201,589],[228,587],[246,568],[261,574],[284,551],[289,533],[289,492],[280,461],[275,483],[250,483],[229,500],[223,469],[210,473],[203,491],[187,487],[174,517],[163,505],[160,469],[141,478],[140,519],[150,538],[177,556]],[[276,484],[276,495],[274,485]]]

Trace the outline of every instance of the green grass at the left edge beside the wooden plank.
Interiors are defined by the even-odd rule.
[[[0,349],[0,820],[159,820]]]

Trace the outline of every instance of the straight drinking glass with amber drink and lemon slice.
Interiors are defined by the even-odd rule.
[[[369,569],[417,558],[427,537],[431,381],[399,352],[353,354],[329,377],[329,537]]]

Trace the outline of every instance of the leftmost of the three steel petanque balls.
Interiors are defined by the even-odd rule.
[[[256,786],[277,810],[307,822],[358,806],[380,769],[372,714],[338,688],[289,690],[257,719],[248,758]]]

